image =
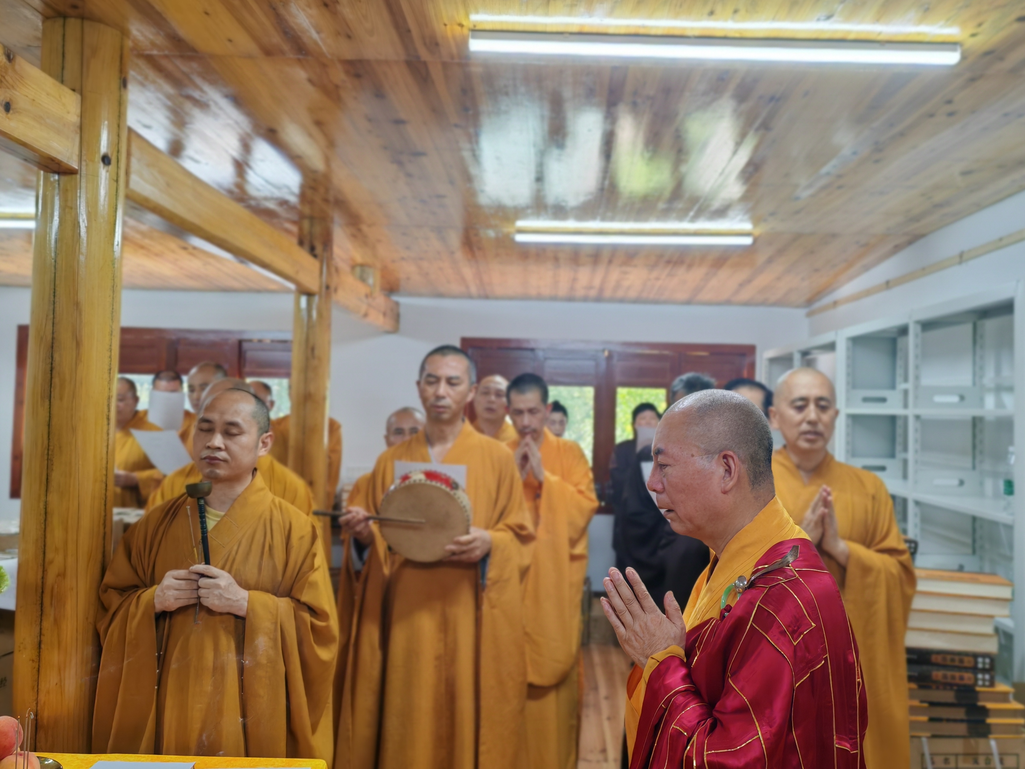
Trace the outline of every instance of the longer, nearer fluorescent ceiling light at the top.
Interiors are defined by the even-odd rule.
[[[482,30],[470,31],[469,50],[474,53],[799,63],[950,66],[960,60],[960,45],[957,43],[755,40]]]

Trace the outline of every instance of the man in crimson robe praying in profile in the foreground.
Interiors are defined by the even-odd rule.
[[[637,663],[630,767],[865,766],[867,703],[835,581],[775,496],[762,412],[695,393],[659,424],[648,487],[672,529],[712,551],[683,612],[632,569],[603,608]]]

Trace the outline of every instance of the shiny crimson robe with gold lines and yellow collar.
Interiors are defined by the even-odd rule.
[[[686,650],[671,646],[644,670],[631,769],[864,768],[868,709],[854,633],[811,542],[772,536],[789,526],[796,528],[774,499],[735,538],[748,551],[761,540],[752,567],[738,572],[731,541],[699,579],[686,612],[699,622],[688,628]],[[734,591],[734,605],[720,609],[726,586],[794,545],[799,554],[790,566],[754,580],[739,599]]]

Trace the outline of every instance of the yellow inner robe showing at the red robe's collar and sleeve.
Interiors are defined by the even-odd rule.
[[[786,540],[807,539],[808,535],[793,522],[779,497],[773,497],[772,501],[751,519],[751,522],[734,535],[733,539],[726,544],[721,556],[715,553],[710,554],[709,564],[705,566],[705,570],[694,583],[690,598],[687,599],[687,606],[684,608],[684,624],[687,628],[696,628],[706,620],[719,616],[723,593],[726,592],[727,586],[736,582],[741,574],[750,576],[758,559],[773,545]],[[680,599],[676,598],[676,600]],[[736,602],[736,592],[730,593],[727,603],[732,606]],[[630,673],[631,683],[640,675],[637,688],[633,689],[632,693],[628,692],[626,696],[626,749],[631,757],[648,678],[652,671],[658,667],[658,664],[671,654],[675,654],[682,659],[687,658],[680,646],[670,646],[664,651],[650,656],[643,673],[639,673],[641,669],[637,666]],[[905,735],[905,739],[907,735]]]

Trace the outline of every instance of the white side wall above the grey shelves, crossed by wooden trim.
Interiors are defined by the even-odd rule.
[[[907,274],[1025,226],[1025,193],[1011,196],[916,241],[868,272],[823,297],[817,305]],[[884,318],[910,307],[968,296],[1025,279],[1025,241],[926,277],[837,307],[810,321],[810,335]],[[787,340],[790,341],[798,341]]]

